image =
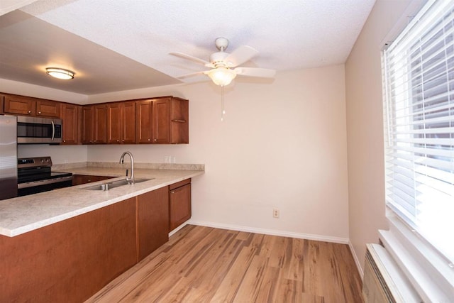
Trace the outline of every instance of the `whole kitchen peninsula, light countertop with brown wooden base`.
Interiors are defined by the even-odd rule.
[[[82,302],[168,241],[172,193],[189,184],[190,199],[204,165],[163,166],[138,163],[135,177],[150,180],[107,191],[87,189],[104,180],[1,201],[2,299]],[[52,168],[112,180],[126,171],[116,163]]]

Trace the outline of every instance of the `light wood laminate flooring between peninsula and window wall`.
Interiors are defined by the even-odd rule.
[[[87,302],[362,302],[345,244],[184,226]]]

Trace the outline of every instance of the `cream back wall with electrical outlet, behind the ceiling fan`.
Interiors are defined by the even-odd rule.
[[[189,145],[91,145],[89,161],[204,163],[194,178],[193,221],[345,242],[347,145],[343,65],[279,72],[274,82],[236,80],[89,96],[89,102],[175,95],[189,99]],[[55,146],[48,147],[52,153]],[[74,147],[77,148],[77,147]],[[53,157],[53,155],[52,155]],[[59,162],[65,159],[59,159]],[[57,162],[57,161],[54,161]],[[280,218],[272,218],[272,208]]]

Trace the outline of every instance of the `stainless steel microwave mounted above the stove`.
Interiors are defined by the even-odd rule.
[[[61,143],[62,119],[18,116],[17,143]]]

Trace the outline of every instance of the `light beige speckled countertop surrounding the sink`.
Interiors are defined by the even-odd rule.
[[[89,162],[88,165],[93,165],[93,163]],[[74,175],[121,176],[115,180],[123,179],[128,167],[128,165],[122,165],[121,167],[55,166],[57,170],[55,170],[55,167],[52,167],[52,170],[72,172]],[[168,166],[164,165],[165,168],[168,168]],[[150,167],[150,165],[138,165],[138,167]],[[153,178],[153,180],[133,185],[127,184],[108,191],[84,189],[95,184],[106,183],[106,180],[104,180],[2,200],[0,201],[0,235],[18,236],[21,233],[33,231],[43,226],[70,219],[79,214],[100,209],[139,194],[204,174],[204,165],[185,167],[175,165],[173,168],[175,167],[178,169],[135,168],[134,176],[136,178]],[[162,168],[162,166],[159,168]],[[187,170],[188,168],[195,170]]]

